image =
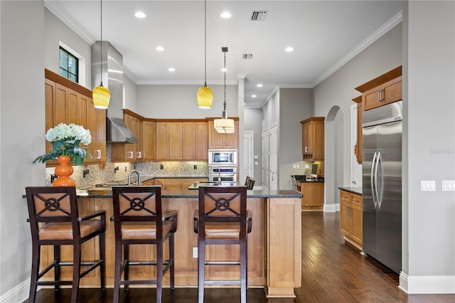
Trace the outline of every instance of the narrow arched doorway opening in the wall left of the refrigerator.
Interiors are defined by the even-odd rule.
[[[338,186],[343,186],[344,115],[338,106],[333,106],[326,116],[324,156],[324,211],[339,209]]]

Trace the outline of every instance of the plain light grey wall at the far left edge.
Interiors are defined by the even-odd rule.
[[[44,4],[0,1],[0,14],[0,301],[22,302],[31,270],[22,195],[25,186],[45,183],[45,166],[32,164],[45,149]]]

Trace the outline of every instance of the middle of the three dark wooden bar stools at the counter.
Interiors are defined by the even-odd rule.
[[[119,186],[112,188],[115,230],[115,277],[113,302],[119,302],[120,285],[125,291],[129,285],[156,285],[156,302],[161,302],[163,276],[171,275],[174,285],[174,233],[177,230],[177,212],[163,215],[161,186]],[[169,258],[164,260],[163,246],[169,239]],[[130,260],[130,245],[156,245],[156,261]],[[123,248],[123,259],[122,259]],[[129,280],[130,266],[156,265],[156,280]],[[122,278],[122,273],[124,279]]]

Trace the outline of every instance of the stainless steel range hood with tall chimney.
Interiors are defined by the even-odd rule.
[[[102,42],[100,56],[100,46],[100,41],[92,45],[92,87],[100,85],[102,80],[102,84],[111,92],[106,115],[106,142],[137,143],[137,137],[123,122],[123,57],[107,41]]]

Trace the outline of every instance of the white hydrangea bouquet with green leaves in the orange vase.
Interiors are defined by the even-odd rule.
[[[52,144],[53,151],[38,156],[33,161],[33,164],[57,159],[58,156],[70,156],[71,164],[82,165],[84,159],[91,156],[87,151],[87,147],[79,146],[80,143],[88,145],[92,142],[90,130],[80,125],[60,123],[48,130],[45,134],[45,139]]]

